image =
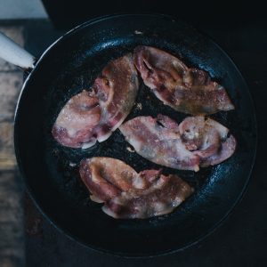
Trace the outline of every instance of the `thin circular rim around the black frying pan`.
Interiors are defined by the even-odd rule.
[[[67,36],[69,36],[70,34],[75,33],[77,30],[81,29],[81,28],[85,28],[88,26],[93,25],[94,23],[98,23],[102,20],[110,20],[110,19],[114,19],[114,18],[120,18],[120,17],[129,17],[129,16],[134,16],[134,17],[138,17],[138,16],[145,16],[145,17],[155,17],[155,18],[167,18],[169,20],[173,20],[176,23],[179,22],[179,20],[175,20],[174,18],[172,18],[169,15],[164,15],[164,14],[156,14],[156,13],[147,13],[147,14],[131,14],[131,13],[120,13],[120,14],[113,14],[113,15],[106,15],[106,16],[102,16],[102,17],[98,17],[98,18],[94,18],[93,20],[88,20],[85,21],[84,23],[78,25],[75,28],[70,29],[67,33],[65,33],[63,36],[61,36],[60,38],[58,38],[55,42],[53,42],[53,44],[51,44],[45,51],[44,53],[41,55],[41,57],[36,61],[35,64],[35,68],[32,69],[32,71],[29,73],[28,77],[26,78],[24,84],[22,85],[21,91],[20,91],[20,96],[17,102],[17,106],[15,109],[15,115],[14,115],[14,136],[13,136],[13,140],[14,140],[14,147],[15,147],[15,155],[16,155],[16,159],[18,162],[18,166],[20,169],[20,174],[21,174],[21,178],[24,182],[24,184],[26,185],[26,189],[28,190],[28,194],[30,196],[30,198],[33,200],[33,202],[35,203],[36,207],[38,208],[38,210],[40,211],[40,213],[44,216],[45,219],[47,219],[48,222],[52,223],[53,226],[60,231],[61,233],[64,233],[64,235],[68,236],[69,239],[71,240],[75,240],[77,243],[79,243],[80,245],[90,248],[95,252],[101,252],[103,254],[107,254],[107,255],[115,255],[115,256],[119,256],[119,257],[125,257],[125,258],[149,258],[149,257],[155,257],[155,256],[162,256],[162,255],[171,255],[177,252],[182,252],[183,250],[189,248],[189,247],[193,247],[194,245],[198,244],[199,242],[202,242],[204,239],[206,239],[208,236],[210,236],[212,233],[214,233],[215,230],[217,230],[220,226],[223,225],[223,223],[226,221],[226,219],[230,216],[230,214],[233,212],[234,208],[236,206],[238,206],[239,202],[241,201],[241,199],[244,197],[245,192],[247,191],[247,187],[248,187],[248,183],[250,182],[251,179],[251,174],[253,172],[253,167],[255,166],[255,158],[256,158],[256,150],[257,150],[257,143],[258,143],[258,131],[257,131],[257,121],[256,121],[256,117],[255,117],[255,103],[252,99],[251,93],[249,91],[249,88],[247,86],[247,82],[245,80],[245,78],[242,76],[241,72],[239,71],[238,67],[236,66],[236,64],[231,60],[231,57],[229,56],[228,53],[226,53],[223,48],[221,48],[221,46],[219,44],[216,44],[214,42],[214,40],[212,38],[210,38],[209,36],[207,36],[206,34],[203,34],[201,32],[201,35],[207,36],[208,39],[210,40],[210,42],[212,42],[212,44],[214,44],[216,46],[216,48],[218,50],[220,50],[221,53],[223,53],[223,55],[227,58],[228,61],[231,61],[231,65],[233,66],[233,68],[237,71],[240,80],[242,81],[242,83],[244,84],[244,86],[247,88],[247,96],[249,98],[249,101],[251,103],[252,106],[252,115],[253,115],[253,119],[255,122],[255,148],[253,151],[253,157],[252,157],[252,162],[251,162],[251,166],[249,168],[249,172],[247,174],[247,179],[244,182],[244,186],[242,188],[242,190],[240,190],[239,195],[237,195],[237,197],[235,198],[234,203],[231,205],[231,208],[228,210],[227,213],[225,213],[221,220],[219,220],[217,223],[214,223],[214,226],[211,227],[209,230],[207,230],[205,233],[203,233],[202,235],[200,235],[198,237],[198,239],[196,239],[195,241],[191,241],[188,244],[186,244],[184,247],[179,247],[177,249],[169,249],[169,250],[164,250],[164,251],[159,251],[159,252],[152,252],[152,253],[145,253],[145,254],[133,254],[133,253],[125,253],[125,252],[114,252],[112,250],[109,249],[103,249],[101,247],[95,247],[93,245],[89,245],[88,243],[86,243],[85,241],[82,241],[80,239],[78,239],[75,235],[71,234],[69,231],[67,231],[66,229],[64,229],[64,227],[61,227],[60,225],[58,225],[58,223],[56,223],[50,216],[49,214],[47,214],[46,212],[44,212],[44,210],[42,209],[42,206],[38,203],[38,200],[36,199],[35,193],[34,191],[31,189],[31,186],[28,183],[28,180],[26,179],[27,175],[24,172],[24,168],[21,162],[21,158],[20,158],[20,150],[19,150],[19,131],[18,131],[18,114],[20,112],[20,100],[21,100],[21,96],[25,90],[25,88],[28,85],[28,80],[30,79],[30,77],[32,76],[32,74],[35,72],[36,70],[36,66],[38,66],[39,64],[41,64],[42,59],[44,58],[44,56],[46,55],[46,53],[48,53],[55,44],[58,44],[59,42],[61,42],[64,38],[66,38]],[[199,32],[199,30],[198,30]]]

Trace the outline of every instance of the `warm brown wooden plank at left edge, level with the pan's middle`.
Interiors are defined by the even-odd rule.
[[[13,170],[17,166],[13,145],[13,123],[0,123],[0,171]]]

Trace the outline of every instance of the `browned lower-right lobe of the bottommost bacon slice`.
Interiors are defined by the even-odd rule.
[[[169,214],[193,189],[177,175],[161,174],[148,190],[130,190],[111,198],[102,210],[114,218],[149,218]]]

